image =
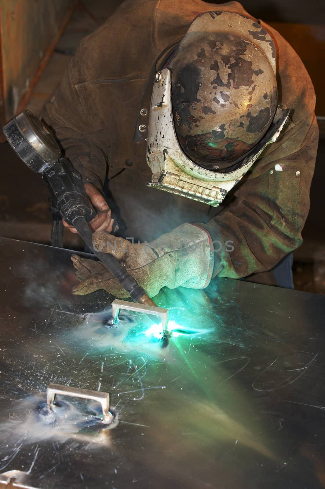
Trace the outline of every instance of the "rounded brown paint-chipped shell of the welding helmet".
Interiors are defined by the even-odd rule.
[[[218,12],[196,18],[168,66],[180,147],[219,172],[231,171],[257,145],[278,101],[271,36],[256,22],[247,31],[222,14],[222,22]]]

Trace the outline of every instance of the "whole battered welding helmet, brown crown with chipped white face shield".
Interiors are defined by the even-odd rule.
[[[280,134],[276,50],[260,24],[206,12],[157,72],[148,185],[217,206]]]

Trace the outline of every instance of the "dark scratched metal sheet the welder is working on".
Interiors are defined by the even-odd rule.
[[[161,292],[189,329],[163,349],[149,318],[109,331],[108,295],[71,295],[69,251],[0,251],[1,474],[49,489],[325,487],[325,296],[227,279]],[[66,425],[40,422],[50,382],[112,392],[117,425],[79,429],[89,406],[72,399]]]

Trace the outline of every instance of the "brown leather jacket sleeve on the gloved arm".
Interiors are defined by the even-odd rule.
[[[215,249],[221,248],[215,253],[213,276],[241,278],[270,270],[302,244],[317,152],[315,116],[294,130],[292,138],[273,152],[273,161],[268,157],[268,170],[254,178],[253,169],[235,187],[234,199],[203,225],[216,241]],[[288,145],[291,152],[286,154]]]

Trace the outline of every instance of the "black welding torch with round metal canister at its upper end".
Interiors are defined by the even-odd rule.
[[[3,127],[3,133],[28,168],[42,175],[51,194],[52,210],[77,229],[87,246],[129,292],[134,302],[158,308],[146,290],[111,253],[102,253],[93,246],[88,222],[96,216],[96,211],[87,196],[81,174],[62,156],[53,133],[36,115],[26,110],[10,120]]]

